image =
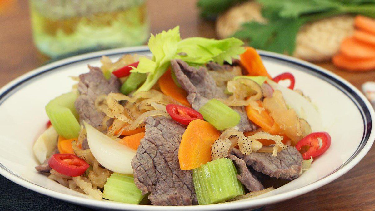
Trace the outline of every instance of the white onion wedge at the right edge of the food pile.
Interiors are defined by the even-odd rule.
[[[308,99],[296,91],[283,87],[272,80],[267,79],[267,83],[274,90],[281,91],[285,103],[287,103],[289,108],[293,108],[294,111],[296,111],[299,118],[306,120],[310,124],[312,132],[321,131],[323,129],[320,114],[317,108],[315,108]]]

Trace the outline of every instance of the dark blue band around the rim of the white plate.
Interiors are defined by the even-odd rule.
[[[109,51],[111,51],[111,50],[109,50]],[[108,53],[108,54],[105,53],[107,51],[100,51],[100,52],[103,52],[103,54],[90,56],[91,54],[98,53],[98,52],[93,52],[93,53],[81,55],[81,56],[83,56],[83,58],[81,58],[81,56],[72,57],[72,58],[76,58],[76,59],[74,59],[72,61],[69,61],[67,63],[55,64],[55,65],[53,65],[54,63],[51,63],[50,64],[51,67],[48,67],[46,69],[44,69],[43,66],[40,67],[40,69],[42,69],[41,71],[37,71],[36,73],[31,74],[31,75],[27,76],[26,78],[22,79],[21,81],[18,81],[17,83],[12,84],[6,90],[3,90],[3,92],[0,94],[0,106],[1,106],[1,104],[3,102],[5,102],[5,100],[8,97],[12,96],[12,94],[14,94],[15,92],[17,92],[17,90],[19,88],[22,88],[28,82],[31,82],[32,80],[37,79],[38,76],[42,76],[45,73],[52,72],[53,70],[55,70],[55,69],[57,69],[59,67],[63,67],[63,66],[69,65],[69,64],[73,64],[73,63],[77,63],[77,62],[81,62],[81,61],[85,61],[85,60],[91,60],[91,59],[95,59],[95,58],[100,58],[100,57],[102,57],[102,55],[115,56],[115,55],[123,55],[123,54],[147,53],[147,52],[150,52],[150,51],[148,50],[148,48],[147,49],[146,48],[141,48],[140,50],[126,50],[126,49],[124,49],[123,51],[116,51],[114,53]],[[314,75],[314,76],[316,76],[316,77],[318,77],[320,79],[323,79],[324,81],[326,81],[329,84],[331,84],[334,87],[336,87],[338,90],[340,90],[342,93],[344,93],[346,96],[348,96],[352,100],[352,102],[356,105],[356,107],[358,108],[358,110],[360,111],[360,114],[362,116],[363,128],[364,128],[362,140],[361,140],[361,142],[360,142],[357,150],[353,153],[353,155],[344,164],[342,164],[339,168],[335,169],[335,171],[332,171],[330,174],[326,175],[323,178],[320,178],[317,181],[323,180],[324,178],[326,178],[326,177],[334,174],[335,172],[337,172],[340,169],[342,169],[345,165],[347,165],[348,163],[350,163],[362,151],[362,149],[365,147],[366,143],[369,140],[371,132],[372,132],[371,112],[370,112],[369,108],[366,106],[366,103],[362,99],[362,97],[359,94],[357,94],[356,91],[353,90],[353,88],[349,87],[344,82],[340,81],[339,79],[337,79],[337,78],[335,78],[335,77],[333,77],[333,76],[331,76],[331,75],[329,75],[329,74],[327,74],[325,72],[322,72],[322,71],[318,70],[317,68],[314,68],[313,66],[311,66],[311,64],[310,65],[305,65],[305,64],[303,64],[304,62],[301,62],[301,61],[298,62],[298,60],[294,61],[296,59],[293,58],[293,57],[290,57],[290,58],[288,58],[288,57],[279,57],[279,56],[277,56],[277,54],[273,55],[274,53],[270,53],[270,52],[266,52],[266,51],[259,51],[259,54],[263,58],[268,58],[270,60],[277,60],[277,61],[279,61],[281,63],[285,63],[285,64],[288,64],[288,65],[293,65],[294,67],[298,67],[297,69],[300,70],[300,71],[302,71],[302,72],[306,72],[306,73],[308,73],[310,75]],[[85,56],[85,55],[87,55],[87,56]],[[71,58],[67,58],[67,59],[71,60]],[[55,62],[55,63],[58,63],[58,61]],[[10,82],[10,83],[12,83],[12,82]],[[19,175],[15,174],[15,173],[13,173],[9,169],[7,169],[2,163],[0,163],[0,168],[4,169],[6,172],[12,174],[13,176],[15,176],[17,178],[20,178],[21,180],[24,180],[24,181],[26,181],[28,183],[31,183],[31,184],[34,184],[36,186],[42,187],[43,189],[47,189],[46,187],[40,186],[38,184],[35,184],[32,181],[29,181],[29,180],[27,180],[25,178],[20,177]],[[315,181],[314,183],[316,183],[317,181]],[[50,189],[47,189],[47,190],[50,190]]]

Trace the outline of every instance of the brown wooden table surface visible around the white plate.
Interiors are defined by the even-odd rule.
[[[195,0],[149,0],[151,33],[180,25],[181,37],[215,38],[214,22],[198,17]],[[12,79],[40,66],[33,45],[27,1],[18,1],[6,14],[0,15],[0,87]],[[336,69],[332,63],[318,64],[345,78],[357,88],[375,79],[375,72],[349,73]],[[266,206],[265,210],[374,210],[375,148],[351,171],[332,183],[285,202]]]

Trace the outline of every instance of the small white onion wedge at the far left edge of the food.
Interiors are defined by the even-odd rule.
[[[56,149],[57,138],[58,134],[53,126],[51,126],[36,139],[33,151],[40,163],[43,163]]]

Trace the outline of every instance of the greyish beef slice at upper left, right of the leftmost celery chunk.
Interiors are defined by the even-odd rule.
[[[80,82],[78,83],[80,96],[75,101],[75,108],[80,115],[81,124],[86,121],[99,129],[102,127],[105,114],[95,108],[95,100],[102,94],[118,93],[121,83],[114,75],[107,80],[99,67],[89,66],[89,68],[89,73],[80,75]]]

